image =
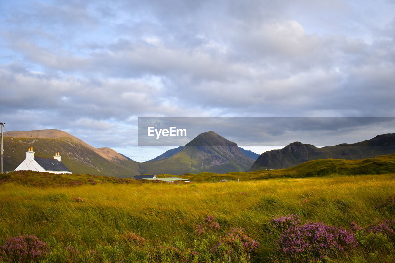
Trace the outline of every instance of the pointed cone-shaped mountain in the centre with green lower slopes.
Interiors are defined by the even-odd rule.
[[[254,160],[246,157],[236,143],[214,131],[199,134],[169,158],[140,164],[142,174],[228,173],[246,171]]]

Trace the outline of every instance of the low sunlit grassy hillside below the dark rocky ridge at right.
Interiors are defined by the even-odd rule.
[[[339,175],[375,175],[395,172],[395,154],[362,160],[322,159],[278,170],[259,170],[240,173],[199,173],[191,175],[192,181],[213,182],[220,179],[260,180],[268,178],[321,177]]]

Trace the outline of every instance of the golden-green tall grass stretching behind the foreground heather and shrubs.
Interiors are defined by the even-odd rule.
[[[280,261],[275,253],[280,234],[271,231],[271,218],[298,214],[303,222],[325,222],[346,229],[352,221],[364,227],[392,219],[395,209],[377,206],[395,192],[394,179],[395,174],[388,174],[65,188],[11,182],[0,185],[0,237],[36,235],[49,244],[51,260],[71,261],[65,249],[73,246],[80,252],[103,254],[100,259],[107,262],[133,262],[131,248],[120,242],[122,235],[136,233],[153,247],[166,246],[176,238],[189,248],[194,240],[203,239],[194,227],[213,215],[221,231],[243,227],[249,237],[260,242],[260,249],[248,261]],[[221,231],[211,235],[223,235]],[[387,260],[387,256],[380,255],[377,260]],[[371,262],[372,256],[356,248],[354,254],[339,260]]]

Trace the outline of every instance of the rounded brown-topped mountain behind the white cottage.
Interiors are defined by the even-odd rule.
[[[111,148],[94,148],[60,130],[8,131],[4,133],[4,171],[14,170],[33,147],[36,156],[53,158],[60,152],[62,163],[73,173],[132,177],[139,175],[139,163]]]

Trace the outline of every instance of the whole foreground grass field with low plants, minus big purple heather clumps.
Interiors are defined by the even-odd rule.
[[[51,176],[56,177],[46,174],[45,179],[53,180]],[[10,237],[21,233],[35,235],[47,246],[21,261],[394,261],[393,223],[386,225],[387,232],[375,226],[395,218],[395,174],[190,184],[99,183],[100,177],[73,176],[81,185],[38,187],[3,179],[2,260],[19,259],[7,246]],[[271,221],[290,214],[299,215],[301,224],[324,222],[348,230],[355,222],[365,230],[353,234],[357,246],[329,249],[325,258],[312,250],[290,256],[278,249],[286,229],[273,228]]]

